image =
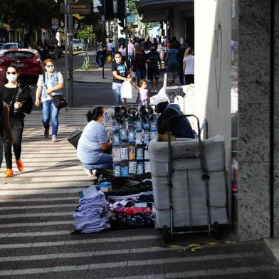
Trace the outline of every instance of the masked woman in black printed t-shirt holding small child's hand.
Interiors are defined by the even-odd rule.
[[[115,51],[115,61],[112,63],[112,91],[115,95],[115,105],[126,105],[126,99],[121,100],[121,88],[124,81],[130,79],[130,71],[126,63],[122,61],[119,51]]]

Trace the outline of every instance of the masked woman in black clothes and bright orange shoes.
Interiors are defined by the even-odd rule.
[[[7,68],[6,78],[8,83],[0,88],[0,99],[9,104],[9,123],[11,126],[12,136],[14,138],[13,149],[16,157],[16,166],[19,172],[23,171],[23,162],[21,161],[21,142],[24,127],[24,112],[30,113],[33,106],[31,97],[32,87],[30,85],[21,85],[17,81],[19,69],[14,65]],[[9,139],[9,135],[4,132],[3,142]],[[4,147],[6,159],[6,171],[4,177],[13,177],[13,164],[11,145],[6,144]]]

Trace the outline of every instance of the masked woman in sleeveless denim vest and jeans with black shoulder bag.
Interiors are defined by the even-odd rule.
[[[53,104],[53,95],[62,95],[63,76],[56,71],[56,67],[52,59],[43,61],[45,73],[38,77],[36,101],[35,105],[38,107],[40,102],[42,104],[43,127],[45,127],[44,135],[49,136],[49,122],[52,124],[52,141],[58,142],[58,115],[59,109]],[[41,100],[40,100],[41,99]]]

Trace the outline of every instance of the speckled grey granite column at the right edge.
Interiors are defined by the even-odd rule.
[[[238,1],[238,13],[238,236],[254,240],[270,235],[270,1]]]

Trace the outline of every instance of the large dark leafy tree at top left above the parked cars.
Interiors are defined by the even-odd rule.
[[[33,31],[38,28],[51,28],[52,18],[62,18],[59,1],[56,0],[1,0],[0,11],[10,19],[11,26],[25,26],[24,45],[31,43]]]

